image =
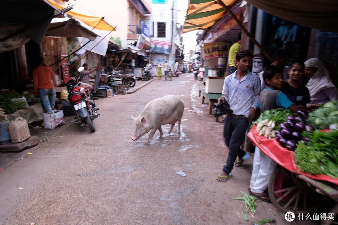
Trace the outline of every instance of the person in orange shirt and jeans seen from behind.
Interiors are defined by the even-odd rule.
[[[47,66],[42,65],[42,57],[35,56],[34,63],[37,65],[33,69],[34,79],[34,95],[40,95],[42,103],[46,109],[46,112],[51,112],[55,106],[55,89],[52,83],[53,74],[51,69]],[[50,101],[48,95],[50,96]]]

